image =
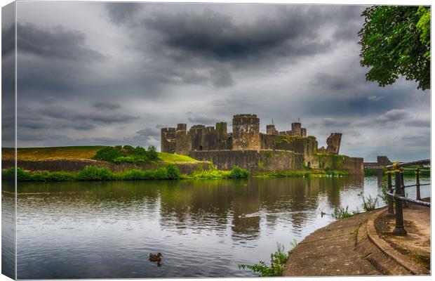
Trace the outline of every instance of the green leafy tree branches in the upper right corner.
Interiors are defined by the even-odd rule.
[[[371,67],[367,81],[393,84],[399,76],[430,89],[431,8],[424,6],[371,6],[358,35],[361,65]]]

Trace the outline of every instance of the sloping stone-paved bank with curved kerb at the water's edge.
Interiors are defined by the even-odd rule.
[[[391,256],[391,251],[384,251],[379,246],[380,243],[375,243],[384,241],[376,233],[374,220],[385,210],[386,208],[368,211],[352,218],[335,221],[325,228],[316,230],[295,247],[289,256],[283,275],[415,274],[413,268],[410,270],[408,263],[401,263],[394,255]],[[413,210],[406,210],[409,211]],[[404,216],[406,220],[406,214]],[[385,248],[393,250],[391,247]],[[417,272],[417,274],[427,274],[422,271]]]

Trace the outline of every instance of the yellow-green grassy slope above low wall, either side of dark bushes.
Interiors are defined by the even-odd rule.
[[[65,146],[53,148],[18,148],[19,160],[55,160],[55,159],[92,159],[92,157],[105,146]],[[13,148],[1,148],[1,159],[12,160],[14,158]],[[176,162],[197,162],[197,160],[186,155],[175,155],[159,152],[159,159],[166,163]]]

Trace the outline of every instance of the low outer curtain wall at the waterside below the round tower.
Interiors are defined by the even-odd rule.
[[[210,160],[217,169],[230,170],[240,166],[251,172],[303,169],[303,155],[284,150],[214,150],[192,151],[191,157]]]

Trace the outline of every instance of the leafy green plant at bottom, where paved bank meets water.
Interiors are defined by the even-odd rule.
[[[293,247],[296,245],[297,243],[293,242]],[[276,243],[276,246],[278,249],[270,254],[270,266],[264,261],[260,261],[255,264],[239,264],[239,268],[252,270],[261,277],[281,276],[291,251],[284,252],[283,244]]]

